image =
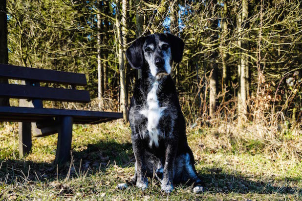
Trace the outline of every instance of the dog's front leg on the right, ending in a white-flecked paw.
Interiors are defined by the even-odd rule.
[[[166,160],[164,165],[164,177],[161,182],[161,190],[166,193],[171,193],[173,191],[173,170],[174,170],[174,160],[177,151],[177,143],[167,142],[166,145]]]

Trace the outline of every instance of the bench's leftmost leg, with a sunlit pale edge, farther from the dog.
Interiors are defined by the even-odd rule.
[[[19,157],[23,158],[31,150],[31,122],[19,122]]]

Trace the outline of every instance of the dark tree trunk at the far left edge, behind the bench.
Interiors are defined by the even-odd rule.
[[[0,1],[0,63],[8,63],[6,0]],[[0,83],[8,80],[0,79]],[[9,99],[0,99],[0,105],[9,106]]]

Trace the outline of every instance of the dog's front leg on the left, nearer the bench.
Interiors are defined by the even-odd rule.
[[[145,190],[148,187],[147,167],[143,153],[143,146],[140,143],[139,135],[132,135],[132,147],[135,157],[135,174],[137,176],[136,186]]]

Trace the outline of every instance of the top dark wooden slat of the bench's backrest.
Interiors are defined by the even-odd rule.
[[[77,86],[87,85],[85,74],[28,68],[7,64],[0,64],[0,77],[15,80],[34,80],[38,82],[70,84]]]

